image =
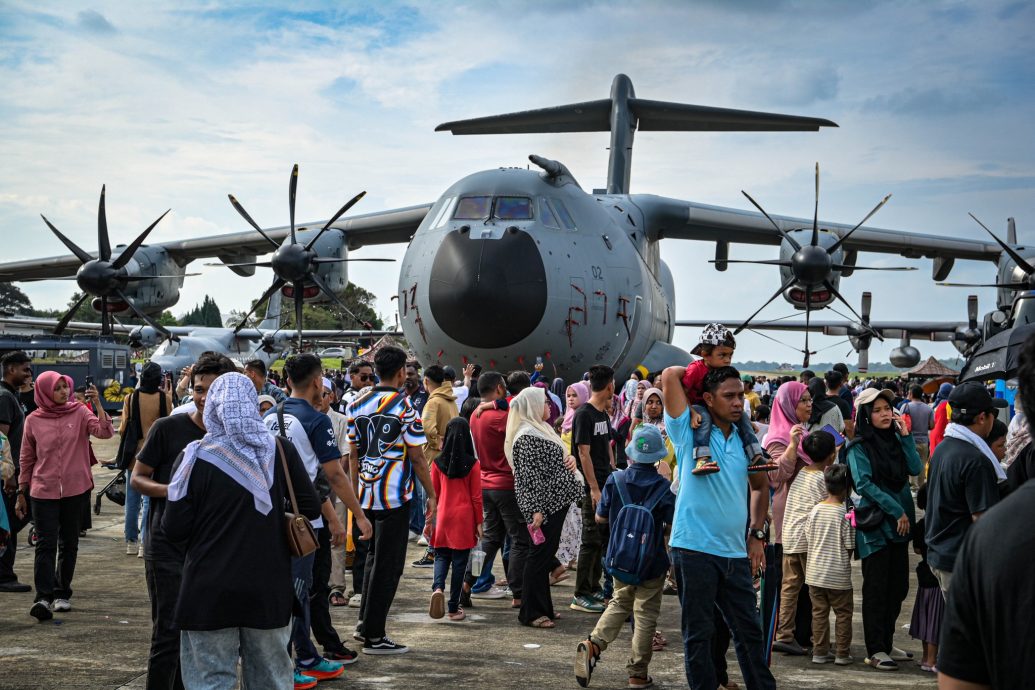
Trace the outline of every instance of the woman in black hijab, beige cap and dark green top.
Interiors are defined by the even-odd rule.
[[[894,393],[886,389],[859,395],[856,438],[848,450],[855,490],[862,497],[855,507],[857,519],[874,510],[882,517],[877,527],[856,531],[866,663],[878,670],[895,670],[896,661],[911,657],[894,647],[892,636],[909,592],[909,542],[916,524],[909,477],[923,467],[893,400]]]

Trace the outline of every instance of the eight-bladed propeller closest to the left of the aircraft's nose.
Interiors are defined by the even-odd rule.
[[[323,228],[320,229],[313,239],[307,243],[302,244],[298,241],[298,236],[295,229],[295,201],[298,196],[298,163],[295,163],[294,168],[291,169],[291,178],[288,182],[288,213],[290,216],[290,234],[289,241],[284,244],[277,244],[273,241],[263,231],[262,228],[248,215],[248,212],[244,210],[244,207],[234,198],[233,194],[229,194],[230,203],[241,214],[241,217],[247,221],[249,226],[255,228],[260,235],[266,238],[266,241],[270,243],[271,246],[275,248],[272,258],[267,262],[253,262],[244,264],[221,264],[226,266],[241,267],[241,266],[262,266],[273,269],[273,274],[276,276],[273,280],[273,284],[263,293],[263,296],[259,298],[255,306],[248,310],[248,312],[241,320],[241,323],[237,325],[234,329],[235,333],[238,333],[247,324],[248,317],[250,317],[256,308],[260,304],[265,303],[270,296],[273,295],[277,290],[283,290],[286,286],[290,284],[294,293],[295,298],[295,328],[298,329],[298,347],[302,346],[302,306],[305,303],[304,291],[306,286],[316,286],[324,295],[331,299],[337,306],[339,306],[347,314],[355,319],[357,322],[363,325],[364,328],[373,329],[374,326],[369,322],[362,321],[357,317],[352,310],[342,301],[337,293],[330,289],[330,286],[321,277],[321,275],[316,271],[317,267],[324,264],[332,263],[345,263],[349,261],[393,261],[391,259],[336,259],[336,258],[324,258],[317,254],[313,247],[316,245],[317,241],[323,236],[323,234],[330,229],[334,222],[342,217],[349,209],[356,205],[360,199],[362,199],[366,192],[361,191],[352,199],[350,199],[346,204],[337,210],[337,212],[331,216],[330,220],[324,223]],[[212,264],[209,264],[212,265]],[[220,264],[215,264],[220,265]]]

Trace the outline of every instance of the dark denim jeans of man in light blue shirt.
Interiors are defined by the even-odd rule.
[[[683,664],[690,688],[713,690],[718,686],[712,661],[714,607],[717,605],[733,633],[737,660],[747,688],[775,690],[776,681],[766,666],[765,638],[747,559],[673,548],[672,562],[683,609],[680,625]]]

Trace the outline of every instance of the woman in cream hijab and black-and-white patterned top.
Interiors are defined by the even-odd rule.
[[[561,541],[564,517],[586,489],[575,459],[545,420],[550,408],[540,388],[526,388],[510,401],[503,452],[514,471],[518,507],[532,534],[525,560],[518,619],[533,628],[553,628],[550,575]]]

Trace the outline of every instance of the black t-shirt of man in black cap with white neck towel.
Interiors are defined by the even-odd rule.
[[[952,571],[956,552],[974,523],[999,502],[992,461],[966,441],[948,438],[938,444],[927,475],[927,562]]]

